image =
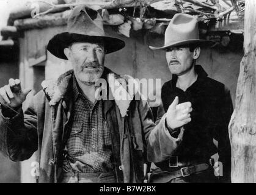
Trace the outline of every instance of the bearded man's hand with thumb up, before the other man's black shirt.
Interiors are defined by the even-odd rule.
[[[167,114],[166,122],[171,129],[184,126],[191,121],[190,113],[192,111],[191,102],[178,104],[178,97],[175,97],[172,104],[170,104]]]

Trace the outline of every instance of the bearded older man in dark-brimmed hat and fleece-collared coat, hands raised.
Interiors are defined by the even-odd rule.
[[[0,89],[1,151],[13,161],[38,151],[39,182],[142,182],[145,161],[165,160],[180,141],[167,127],[191,121],[192,108],[175,101],[155,126],[147,102],[136,99],[139,92],[129,91],[122,77],[104,67],[104,55],[124,46],[104,35],[97,12],[76,7],[68,32],[55,35],[47,47],[73,70],[43,82],[24,113],[29,90],[21,90],[20,80],[10,79]],[[106,80],[106,96],[98,79]]]

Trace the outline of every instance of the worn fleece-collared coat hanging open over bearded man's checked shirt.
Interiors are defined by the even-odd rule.
[[[109,75],[114,75],[114,80]],[[119,83],[120,77],[104,69],[108,83]],[[131,78],[130,78],[131,79]],[[73,71],[62,74],[57,81],[42,83],[43,90],[33,98],[24,112],[11,118],[0,113],[0,150],[13,161],[23,161],[38,151],[40,164],[38,182],[58,182],[61,177],[63,150],[70,133],[73,114]],[[134,79],[131,79],[134,80]],[[158,126],[146,101],[108,99],[103,112],[112,138],[115,172],[118,182],[142,182],[145,161],[162,161],[177,147],[177,140],[166,130],[164,119]],[[114,91],[109,91],[115,94]],[[128,94],[128,93],[127,93]],[[138,97],[138,96],[137,96]]]

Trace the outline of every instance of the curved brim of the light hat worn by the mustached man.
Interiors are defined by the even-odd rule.
[[[197,44],[199,46],[212,46],[214,43],[215,43],[214,41],[209,41],[209,40],[191,39],[191,40],[185,40],[185,41],[177,41],[172,44],[168,44],[166,46],[159,47],[159,48],[156,48],[153,46],[149,46],[149,48],[153,50],[166,50],[168,48],[172,48],[176,46],[185,46],[188,44]]]

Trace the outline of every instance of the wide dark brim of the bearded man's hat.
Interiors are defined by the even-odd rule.
[[[59,59],[67,60],[67,57],[64,54],[64,49],[68,48],[68,46],[70,46],[71,43],[81,41],[89,41],[93,43],[100,43],[101,41],[103,41],[106,54],[119,51],[120,49],[125,47],[125,41],[115,37],[89,36],[73,34],[69,32],[62,32],[60,34],[55,35],[53,38],[51,38],[51,40],[49,40],[46,49]]]

